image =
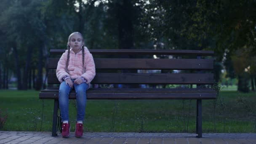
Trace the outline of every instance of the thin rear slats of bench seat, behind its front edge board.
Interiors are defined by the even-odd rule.
[[[43,93],[58,93],[59,88],[42,90]],[[75,92],[72,90],[71,92]],[[90,88],[89,93],[215,93],[212,88]]]

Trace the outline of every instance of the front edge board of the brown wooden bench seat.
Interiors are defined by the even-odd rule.
[[[59,92],[40,93],[40,99],[59,99]],[[76,99],[75,93],[69,99]],[[216,99],[216,93],[93,93],[87,92],[87,99]]]

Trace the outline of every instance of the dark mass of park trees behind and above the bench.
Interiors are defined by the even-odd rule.
[[[42,88],[51,48],[67,47],[79,31],[88,48],[213,50],[238,90],[255,90],[256,1],[2,0],[0,88]],[[217,68],[219,67],[219,68]],[[35,76],[36,75],[36,76]],[[35,77],[33,79],[32,77]]]

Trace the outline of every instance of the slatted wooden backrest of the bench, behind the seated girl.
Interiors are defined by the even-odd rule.
[[[50,51],[53,58],[48,58],[48,69],[56,69],[64,51],[64,49]],[[136,49],[91,49],[89,51],[96,65],[96,76],[91,82],[94,84],[201,85],[214,83],[213,59],[208,59],[209,56],[213,56],[213,51]],[[154,55],[161,58],[154,59]],[[137,57],[127,58],[128,56]],[[138,69],[160,69],[165,73],[147,73],[148,71],[137,73]],[[133,71],[129,72],[129,70]],[[184,73],[171,73],[171,70],[183,70]],[[48,84],[59,84],[55,72],[48,73]]]

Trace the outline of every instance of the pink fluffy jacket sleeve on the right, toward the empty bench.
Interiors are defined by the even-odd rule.
[[[95,72],[95,64],[94,64],[94,60],[93,60],[93,56],[91,53],[88,53],[85,56],[85,73],[83,73],[83,75],[81,75],[81,77],[85,78],[85,80],[87,80],[87,84],[91,83],[91,81],[93,80],[96,72]]]

